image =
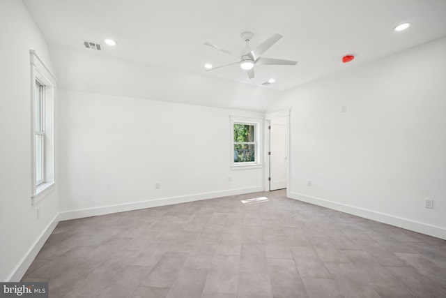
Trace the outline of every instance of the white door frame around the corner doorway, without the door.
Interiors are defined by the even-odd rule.
[[[280,110],[277,112],[269,112],[265,114],[265,143],[264,143],[264,161],[265,170],[263,171],[263,191],[270,191],[270,124],[271,120],[277,118],[286,118],[286,196],[289,197],[290,188],[290,116],[291,110]]]

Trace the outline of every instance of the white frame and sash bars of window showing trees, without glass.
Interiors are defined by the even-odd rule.
[[[262,124],[263,119],[259,118],[249,118],[249,117],[230,117],[231,123],[231,159],[230,159],[230,168],[231,170],[246,170],[246,169],[255,169],[262,167]],[[254,142],[234,142],[234,125],[235,124],[243,124],[243,125],[252,125],[254,126]],[[234,146],[236,144],[254,144],[254,161],[247,162],[236,162],[234,161]]]

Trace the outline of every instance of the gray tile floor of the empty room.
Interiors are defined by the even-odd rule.
[[[49,297],[446,297],[446,241],[250,193],[63,221]]]

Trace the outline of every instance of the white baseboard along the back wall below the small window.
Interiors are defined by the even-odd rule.
[[[193,195],[183,195],[179,197],[160,198],[155,200],[146,200],[141,202],[130,202],[125,204],[115,204],[102,207],[94,207],[88,209],[78,209],[73,211],[62,211],[59,213],[60,221],[68,221],[70,219],[84,218],[89,216],[98,216],[104,214],[112,214],[124,211],[132,211],[137,209],[145,209],[150,207],[159,207],[170,204],[179,204],[198,200],[207,200],[213,198],[226,197],[229,195],[242,195],[244,193],[256,193],[263,191],[263,186],[237,188],[229,191],[213,191],[210,193],[195,193]]]

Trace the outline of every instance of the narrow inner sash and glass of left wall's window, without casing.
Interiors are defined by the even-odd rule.
[[[36,80],[36,186],[45,182],[45,86]]]

